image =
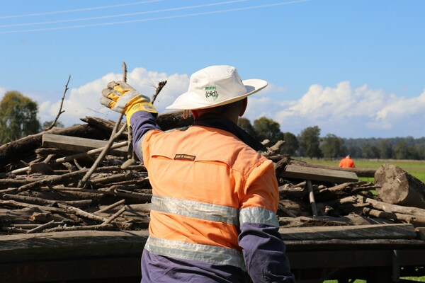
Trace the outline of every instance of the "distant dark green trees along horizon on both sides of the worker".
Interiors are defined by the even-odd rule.
[[[36,134],[52,124],[52,121],[41,124],[37,115],[35,101],[18,91],[8,91],[0,101],[0,144]],[[320,137],[318,126],[307,127],[295,135],[281,132],[279,123],[266,117],[254,120],[253,124],[241,117],[238,125],[259,141],[268,139],[271,145],[284,140],[280,154],[290,156],[333,159],[351,154],[353,158],[425,159],[425,137],[343,139],[334,134]],[[61,122],[57,122],[56,126],[64,127]]]

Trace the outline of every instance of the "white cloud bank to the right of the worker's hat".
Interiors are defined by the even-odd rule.
[[[424,135],[420,125],[425,122],[425,91],[417,97],[403,98],[368,86],[352,88],[343,81],[334,88],[313,85],[300,100],[274,103],[280,103],[280,110],[269,117],[278,121],[284,132],[297,134],[305,127],[318,125],[322,135],[340,137]]]

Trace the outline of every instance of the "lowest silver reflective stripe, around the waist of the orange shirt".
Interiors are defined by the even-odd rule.
[[[198,260],[211,264],[232,265],[246,270],[242,253],[232,248],[171,241],[152,236],[147,238],[145,248],[157,255],[185,260]]]

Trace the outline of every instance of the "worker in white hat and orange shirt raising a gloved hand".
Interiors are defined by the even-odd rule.
[[[163,132],[149,98],[122,81],[101,104],[124,112],[152,185],[142,283],[295,282],[278,232],[278,183],[262,144],[237,126],[247,97],[267,86],[211,66],[167,109],[191,111],[186,131]]]

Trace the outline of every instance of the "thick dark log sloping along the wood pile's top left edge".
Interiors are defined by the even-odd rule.
[[[92,139],[103,139],[107,135],[101,129],[91,127],[90,125],[77,125],[66,128],[54,127],[47,131],[52,134],[64,134],[73,137],[86,137]],[[42,134],[32,134],[16,141],[8,142],[0,146],[0,168],[4,168],[6,164],[17,161],[28,156],[28,152],[34,151],[41,146]]]

